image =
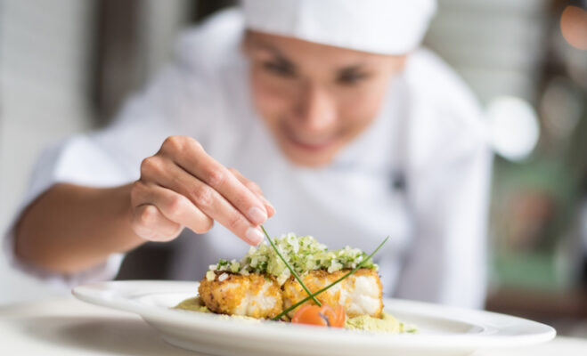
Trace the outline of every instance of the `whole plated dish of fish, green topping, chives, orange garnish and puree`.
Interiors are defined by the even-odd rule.
[[[383,312],[378,265],[358,248],[329,250],[294,233],[220,260],[200,281],[199,298],[176,308],[327,327],[414,332]]]

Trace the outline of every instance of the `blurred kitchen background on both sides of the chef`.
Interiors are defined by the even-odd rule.
[[[0,231],[49,143],[107,125],[178,31],[233,1],[0,0]],[[587,337],[587,0],[440,0],[425,44],[491,123],[487,309]],[[130,254],[118,279],[165,278],[173,245]],[[151,267],[152,268],[152,267]],[[0,304],[57,293],[0,256]]]

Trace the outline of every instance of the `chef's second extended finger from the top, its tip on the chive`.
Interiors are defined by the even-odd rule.
[[[157,162],[155,166],[143,166],[142,175],[151,177],[153,182],[156,182],[160,186],[174,190],[184,197],[189,198],[204,214],[207,214],[216,222],[224,225],[249,245],[257,246],[263,240],[263,232],[260,231],[258,226],[250,223],[217,190],[205,182],[201,182],[198,178],[189,174],[182,167],[175,165],[174,162],[168,159],[155,160],[155,162]],[[155,169],[159,172],[151,172],[151,170]],[[244,187],[243,189],[247,190]]]

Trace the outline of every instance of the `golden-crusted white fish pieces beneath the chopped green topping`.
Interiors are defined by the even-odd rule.
[[[301,278],[306,287],[314,293],[340,279],[348,271],[309,271]],[[219,280],[223,275],[223,280]],[[265,319],[277,316],[307,296],[306,291],[293,276],[280,287],[273,276],[259,273],[244,276],[226,271],[215,271],[214,280],[204,277],[200,281],[198,292],[202,303],[212,312]],[[379,275],[377,271],[367,268],[359,269],[336,286],[317,295],[316,299],[320,303],[343,305],[348,318],[364,314],[379,318],[383,311]],[[314,302],[310,300],[302,305],[308,303]],[[289,312],[289,317],[292,317],[296,310]]]

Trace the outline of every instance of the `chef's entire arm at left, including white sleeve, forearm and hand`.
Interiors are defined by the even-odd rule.
[[[77,281],[76,275],[63,273],[77,274],[144,240],[175,239],[183,226],[205,232],[213,221],[254,243],[249,228],[273,214],[258,187],[219,165],[195,140],[176,136],[198,137],[206,147],[223,119],[216,67],[196,51],[206,48],[200,37],[180,40],[175,61],[125,105],[113,125],[68,140],[39,160],[18,229],[6,234],[5,251],[13,265],[43,279]],[[170,136],[175,139],[161,145]],[[252,206],[261,219],[258,214],[251,218]],[[19,258],[13,259],[15,254]],[[119,261],[119,255],[112,256],[107,270],[88,271],[90,279],[111,276]]]

